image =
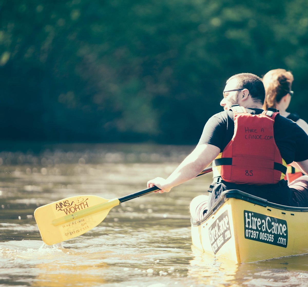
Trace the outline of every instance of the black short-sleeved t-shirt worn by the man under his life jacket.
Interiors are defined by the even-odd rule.
[[[261,114],[261,109],[246,109],[250,114]],[[213,115],[205,124],[200,144],[215,145],[221,152],[234,134],[233,112],[223,111]],[[274,122],[274,139],[287,164],[308,159],[308,136],[295,122],[277,115]]]

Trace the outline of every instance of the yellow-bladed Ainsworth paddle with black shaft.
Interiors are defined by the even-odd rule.
[[[212,167],[197,175],[212,172]],[[59,243],[86,233],[104,220],[110,209],[121,202],[160,190],[153,186],[124,197],[105,199],[96,195],[67,197],[35,209],[34,217],[43,241]]]

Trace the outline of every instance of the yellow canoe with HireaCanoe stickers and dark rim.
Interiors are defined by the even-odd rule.
[[[237,263],[308,253],[307,212],[227,190],[201,221],[192,221],[192,242]]]

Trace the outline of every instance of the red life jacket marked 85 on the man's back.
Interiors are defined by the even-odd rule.
[[[249,114],[244,107],[231,106],[234,134],[213,161],[213,173],[237,184],[266,185],[285,177],[286,162],[274,140],[276,109]]]

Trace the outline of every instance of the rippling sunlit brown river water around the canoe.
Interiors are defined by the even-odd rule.
[[[32,144],[0,152],[0,286],[308,286],[308,255],[238,265],[193,248],[188,205],[206,190],[209,174],[124,202],[79,237],[43,243],[38,206],[137,192],[168,176],[192,149]]]

